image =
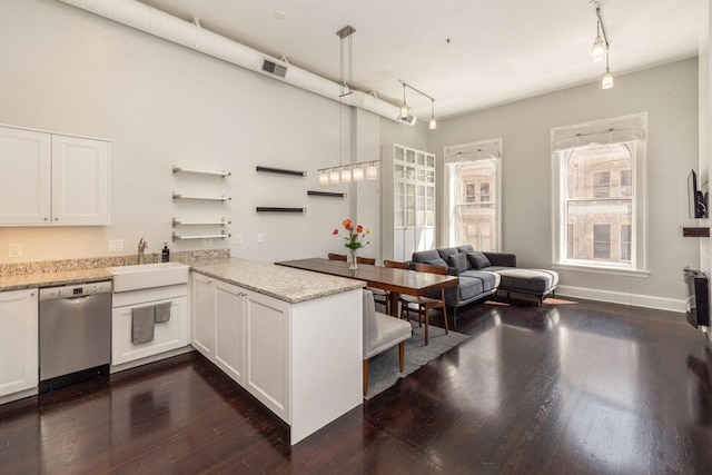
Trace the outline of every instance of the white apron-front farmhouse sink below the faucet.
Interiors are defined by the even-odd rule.
[[[109,267],[113,275],[115,293],[186,284],[189,269],[189,266],[180,263]]]

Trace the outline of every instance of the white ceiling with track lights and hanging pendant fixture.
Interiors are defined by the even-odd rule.
[[[336,81],[336,31],[350,24],[354,86],[399,105],[403,79],[435,98],[439,118],[599,81],[605,70],[591,60],[589,0],[141,1]],[[614,77],[696,56],[705,2],[603,0]],[[429,119],[427,98],[408,91],[407,102]]]

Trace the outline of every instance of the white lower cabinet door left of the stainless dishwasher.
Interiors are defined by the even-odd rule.
[[[37,289],[0,293],[0,396],[37,388]]]

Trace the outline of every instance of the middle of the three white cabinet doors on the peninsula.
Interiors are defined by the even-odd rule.
[[[216,280],[215,360],[240,386],[245,386],[245,294],[236,286]]]

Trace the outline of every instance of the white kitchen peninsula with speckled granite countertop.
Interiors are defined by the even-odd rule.
[[[192,346],[290,425],[291,444],[362,404],[365,283],[245,259],[192,268]]]

